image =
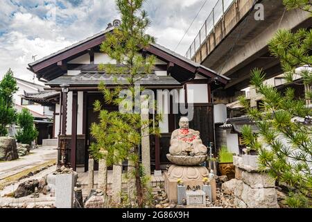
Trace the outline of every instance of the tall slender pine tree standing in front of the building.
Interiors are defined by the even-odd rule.
[[[144,169],[139,160],[139,146],[141,144],[141,128],[150,126],[150,133],[159,135],[159,128],[153,127],[153,121],[144,121],[139,113],[131,113],[135,110],[135,100],[140,100],[135,94],[135,85],[138,81],[152,74],[155,56],[143,56],[142,51],[151,43],[154,38],[146,35],[146,28],[150,25],[146,11],[142,5],[144,0],[116,0],[117,8],[121,14],[121,24],[114,28],[112,33],[105,35],[105,41],[101,44],[101,51],[110,58],[116,60],[118,66],[113,64],[101,64],[98,69],[105,70],[107,74],[114,74],[116,87],[108,89],[105,83],[99,85],[103,92],[105,103],[113,104],[128,110],[128,112],[108,112],[102,109],[101,103],[94,103],[94,110],[99,112],[100,123],[93,123],[91,134],[96,139],[92,144],[91,151],[94,157],[103,158],[100,151],[105,149],[107,164],[119,164],[129,160],[134,164],[137,205],[143,207],[148,204],[147,180]],[[117,77],[125,76],[126,84],[121,84]],[[131,101],[125,102],[119,98],[122,89],[128,89],[132,96]],[[144,90],[139,87],[139,92]],[[160,115],[156,116],[155,125],[161,120]]]

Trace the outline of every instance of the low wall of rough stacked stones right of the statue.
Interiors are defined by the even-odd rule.
[[[240,208],[278,208],[275,180],[234,156],[234,205]]]

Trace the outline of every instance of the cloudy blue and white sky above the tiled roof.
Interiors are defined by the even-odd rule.
[[[175,49],[205,0],[147,0],[156,42]],[[207,0],[176,49],[183,56],[216,0]],[[103,31],[119,18],[114,0],[2,0],[0,6],[0,77],[9,67],[32,80],[27,64]]]

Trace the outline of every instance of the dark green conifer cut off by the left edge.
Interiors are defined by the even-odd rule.
[[[16,120],[12,98],[17,90],[18,87],[13,77],[13,71],[8,69],[0,82],[0,136],[8,135],[6,126],[14,123]]]

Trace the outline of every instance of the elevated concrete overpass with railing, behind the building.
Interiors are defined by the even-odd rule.
[[[264,20],[254,19],[257,3],[263,5]],[[223,5],[221,17],[213,15],[211,29],[209,15],[186,56],[231,78],[225,87],[228,92],[248,87],[255,67],[266,71],[267,78],[281,74],[279,60],[268,51],[268,41],[279,28],[295,31],[312,26],[307,12],[286,11],[282,0],[219,0],[218,4]]]

